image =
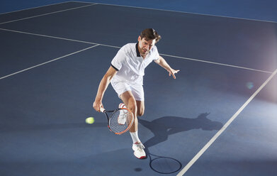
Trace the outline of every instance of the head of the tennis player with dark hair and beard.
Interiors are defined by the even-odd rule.
[[[145,55],[149,53],[151,48],[161,39],[161,35],[154,31],[153,28],[146,28],[140,33],[138,37],[138,49],[140,54]]]

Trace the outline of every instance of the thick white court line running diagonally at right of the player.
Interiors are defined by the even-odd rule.
[[[188,171],[188,169],[194,164],[196,163],[196,160],[198,160],[198,158],[200,158],[201,155],[203,155],[203,153],[205,152],[205,150],[207,150],[210,145],[213,144],[213,142],[215,142],[215,140],[218,138],[218,136],[221,135],[221,133],[223,131],[225,131],[225,129],[232,123],[232,121],[234,121],[234,119],[237,118],[237,116],[242,112],[242,110],[250,103],[250,101],[252,99],[254,99],[254,97],[256,97],[257,94],[259,94],[259,92],[261,91],[261,89],[263,89],[266,84],[276,75],[277,70],[275,70],[270,77],[268,77],[268,79],[266,79],[266,81],[264,82],[264,84],[261,85],[261,87],[259,87],[259,89],[256,90],[256,92],[254,92],[254,94],[251,95],[251,97],[242,105],[242,107],[239,108],[239,110],[231,117],[231,119],[229,119],[229,121],[227,121],[225,123],[224,126],[222,126],[222,128],[220,129],[220,131],[217,131],[217,133],[215,134],[215,136],[213,136],[213,138],[210,139],[210,141],[193,157],[193,159],[191,159],[191,161],[185,166],[183,167],[183,170],[181,170],[181,172],[179,172],[179,174],[177,176],[181,176],[184,175],[186,173],[186,171]]]

